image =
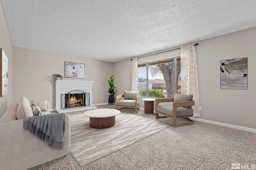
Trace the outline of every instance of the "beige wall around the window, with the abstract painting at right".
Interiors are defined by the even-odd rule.
[[[201,116],[209,121],[256,129],[256,27],[197,41]],[[175,49],[175,48],[174,48]],[[180,50],[138,59],[138,63],[180,55]],[[248,57],[248,90],[220,89],[220,60]],[[114,63],[118,94],[131,89],[130,59]],[[129,73],[129,74],[128,74]],[[144,107],[141,101],[140,107]]]

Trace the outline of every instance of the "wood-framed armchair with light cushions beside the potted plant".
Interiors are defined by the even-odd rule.
[[[132,92],[124,90],[124,94],[116,96],[116,109],[118,109],[118,107],[134,108],[135,113],[138,113],[138,111],[140,111],[140,109],[138,108],[140,104],[140,101],[138,100],[140,98],[140,95],[138,94],[138,91]]]

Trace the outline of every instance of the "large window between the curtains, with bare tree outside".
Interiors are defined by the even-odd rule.
[[[140,96],[173,98],[180,93],[180,85],[180,57],[138,64]]]

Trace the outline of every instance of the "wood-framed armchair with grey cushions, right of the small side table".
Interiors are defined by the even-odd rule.
[[[156,119],[169,117],[173,127],[194,125],[194,121],[189,119],[194,113],[191,106],[195,105],[195,101],[192,99],[193,95],[177,93],[174,98],[156,99]],[[177,119],[185,119],[189,123],[177,124]]]

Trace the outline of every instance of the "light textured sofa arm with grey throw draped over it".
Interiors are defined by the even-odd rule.
[[[65,114],[64,146],[52,149],[28,130],[23,119],[0,123],[0,169],[28,169],[70,152],[70,117]]]

